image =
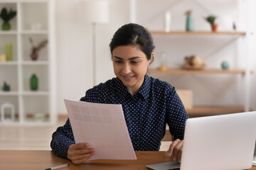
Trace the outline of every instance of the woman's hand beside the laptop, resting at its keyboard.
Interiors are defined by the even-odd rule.
[[[181,162],[181,154],[183,148],[183,140],[174,140],[167,151],[167,155],[171,157],[173,161]]]

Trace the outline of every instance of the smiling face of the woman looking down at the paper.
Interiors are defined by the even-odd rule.
[[[152,52],[151,58],[154,55]],[[144,82],[147,67],[151,60],[139,47],[122,45],[112,51],[114,74],[127,86],[132,96],[139,90]]]

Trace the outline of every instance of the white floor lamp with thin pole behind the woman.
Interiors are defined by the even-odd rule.
[[[109,3],[107,0],[81,1],[80,10],[87,23],[92,23],[92,81],[96,85],[96,24],[109,21]]]

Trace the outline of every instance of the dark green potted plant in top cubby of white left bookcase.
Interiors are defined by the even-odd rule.
[[[10,30],[11,25],[9,21],[16,16],[16,11],[10,11],[8,12],[6,8],[2,8],[1,13],[0,13],[0,18],[3,19],[4,23],[2,24],[2,30]]]

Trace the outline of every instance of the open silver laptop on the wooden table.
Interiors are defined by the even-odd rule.
[[[250,169],[255,152],[256,112],[189,118],[181,170]],[[174,166],[172,166],[174,165]],[[177,162],[146,166],[177,169]]]

